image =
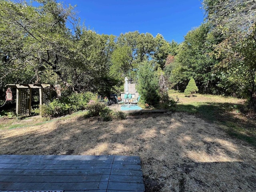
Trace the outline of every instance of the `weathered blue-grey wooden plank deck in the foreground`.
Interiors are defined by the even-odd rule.
[[[0,155],[0,191],[144,192],[140,157]]]

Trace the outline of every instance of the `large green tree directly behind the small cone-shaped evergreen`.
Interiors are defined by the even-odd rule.
[[[212,93],[212,89],[216,89],[218,76],[213,74],[216,74],[214,66],[218,60],[210,56],[214,50],[211,44],[214,43],[214,36],[210,33],[207,23],[186,34],[184,42],[178,46],[175,62],[166,68],[171,69],[169,74],[173,86],[184,90],[192,76],[197,80],[200,92]]]

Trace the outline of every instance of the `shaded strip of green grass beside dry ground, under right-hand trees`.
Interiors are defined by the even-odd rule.
[[[199,106],[179,104],[179,111],[195,114],[210,123],[217,123],[230,136],[256,146],[256,119],[246,116],[244,105],[236,103],[204,103]]]

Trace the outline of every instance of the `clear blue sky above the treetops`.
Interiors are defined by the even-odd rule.
[[[85,26],[98,34],[138,30],[154,37],[159,33],[167,41],[180,43],[184,36],[204,20],[201,0],[61,0],[77,5],[75,10]]]

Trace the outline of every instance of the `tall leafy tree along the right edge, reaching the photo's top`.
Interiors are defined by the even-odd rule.
[[[250,110],[256,113],[256,3],[204,0],[203,5],[212,32],[220,37],[220,43],[214,46],[215,56],[222,58],[219,67],[235,81],[244,75],[241,79],[244,89],[249,88]]]

